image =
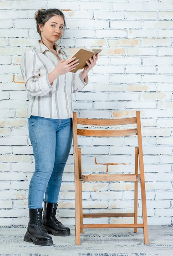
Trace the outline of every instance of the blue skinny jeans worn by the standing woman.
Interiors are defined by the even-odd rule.
[[[29,185],[30,209],[42,208],[43,198],[45,202],[57,203],[72,137],[71,118],[29,118],[29,138],[35,158],[35,172]]]

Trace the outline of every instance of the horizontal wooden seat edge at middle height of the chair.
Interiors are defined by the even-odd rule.
[[[82,180],[87,181],[136,181],[140,180],[140,175],[136,174],[91,174],[82,175]]]

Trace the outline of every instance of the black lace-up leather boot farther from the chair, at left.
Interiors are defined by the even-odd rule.
[[[42,210],[29,209],[29,223],[24,241],[34,245],[53,245],[51,236],[42,225]]]

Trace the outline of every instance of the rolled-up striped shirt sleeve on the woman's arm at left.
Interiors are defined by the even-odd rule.
[[[22,56],[20,69],[28,94],[41,97],[52,90],[48,72],[40,76],[40,63],[38,65],[38,59],[34,52],[28,51]]]

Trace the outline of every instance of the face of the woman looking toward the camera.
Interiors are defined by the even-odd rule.
[[[62,36],[64,19],[62,16],[53,16],[44,24],[44,26],[39,24],[39,29],[41,31],[42,40],[55,43]]]

